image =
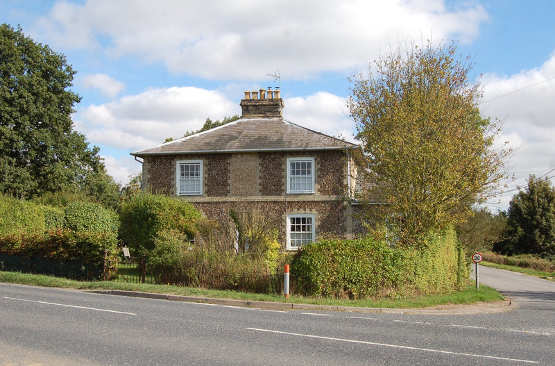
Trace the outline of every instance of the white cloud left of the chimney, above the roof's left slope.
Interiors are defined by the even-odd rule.
[[[221,92],[200,88],[151,89],[100,106],[78,110],[76,129],[94,144],[135,151],[180,138],[203,126],[205,119],[240,113]]]

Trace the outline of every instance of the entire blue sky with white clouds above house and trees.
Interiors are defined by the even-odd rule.
[[[481,112],[503,121],[514,180],[555,176],[554,1],[0,0],[0,22],[67,56],[74,124],[125,184],[130,151],[240,114],[244,90],[275,86],[284,117],[352,140],[348,77],[398,42],[457,40],[482,75]]]

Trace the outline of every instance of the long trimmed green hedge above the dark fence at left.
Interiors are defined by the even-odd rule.
[[[102,263],[117,248],[117,215],[97,203],[67,208],[0,196],[0,252],[25,258]]]

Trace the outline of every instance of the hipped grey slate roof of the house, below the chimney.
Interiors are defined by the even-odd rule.
[[[309,130],[281,117],[243,117],[212,130],[135,151],[131,155],[337,150],[345,147],[357,145]]]

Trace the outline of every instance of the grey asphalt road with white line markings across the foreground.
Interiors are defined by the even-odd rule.
[[[503,313],[407,315],[0,284],[0,365],[555,365],[554,303],[524,295]]]

